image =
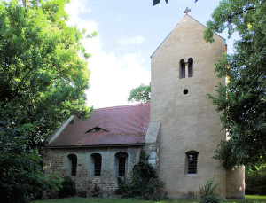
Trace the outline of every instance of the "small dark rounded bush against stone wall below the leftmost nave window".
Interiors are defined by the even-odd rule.
[[[75,183],[71,177],[65,176],[62,188],[59,190],[59,198],[73,197],[76,193]]]

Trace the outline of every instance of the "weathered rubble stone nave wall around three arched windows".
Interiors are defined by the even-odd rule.
[[[44,155],[43,171],[52,173],[59,171],[60,176],[70,176],[70,168],[67,155],[77,156],[76,176],[71,176],[78,191],[94,189],[95,184],[103,191],[113,193],[117,189],[117,176],[115,169],[115,154],[117,152],[128,153],[126,165],[126,178],[132,176],[132,168],[139,159],[141,147],[102,147],[102,148],[74,148],[74,149],[47,149]],[[101,176],[93,176],[94,167],[90,155],[99,153],[102,156]]]

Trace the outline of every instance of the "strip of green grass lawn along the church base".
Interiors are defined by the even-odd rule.
[[[137,203],[137,202],[143,202],[143,203],[179,203],[179,202],[188,202],[188,203],[199,203],[198,199],[165,199],[161,201],[145,201],[145,200],[139,200],[139,199],[103,199],[103,198],[66,198],[66,199],[48,199],[48,200],[35,200],[31,203]],[[222,200],[221,203],[224,202],[254,202],[254,203],[261,203],[266,202],[266,196],[256,196],[256,195],[246,195],[246,199],[230,199],[230,200]]]

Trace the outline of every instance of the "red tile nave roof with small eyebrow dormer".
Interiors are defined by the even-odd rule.
[[[86,121],[74,117],[48,147],[144,144],[149,122],[149,103],[96,109]],[[96,127],[106,131],[88,132]]]

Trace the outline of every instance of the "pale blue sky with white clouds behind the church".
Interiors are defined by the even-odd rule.
[[[194,19],[206,25],[219,0],[71,0],[66,4],[68,25],[85,28],[98,36],[82,43],[88,59],[90,88],[87,105],[103,108],[129,105],[130,90],[151,81],[153,51],[184,17],[186,7]],[[227,39],[227,33],[221,36]],[[232,51],[234,36],[226,40]]]

